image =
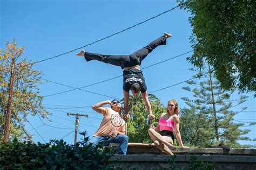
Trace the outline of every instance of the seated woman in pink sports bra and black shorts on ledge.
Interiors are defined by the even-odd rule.
[[[179,107],[175,99],[168,101],[166,113],[161,114],[156,128],[153,125],[150,126],[149,135],[156,147],[167,154],[173,155],[171,151],[175,149],[173,146],[173,132],[175,132],[180,147],[187,147],[183,145],[181,140],[179,131]]]

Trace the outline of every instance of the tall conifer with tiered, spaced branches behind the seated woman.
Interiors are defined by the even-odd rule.
[[[190,109],[183,110],[183,117],[181,117],[181,123],[191,125],[185,129],[185,126],[181,125],[183,136],[191,136],[188,137],[187,141],[184,139],[184,143],[188,142],[193,146],[224,144],[240,147],[237,140],[250,140],[243,136],[250,130],[239,129],[239,127],[244,126],[244,123],[234,123],[233,117],[239,112],[230,109],[245,102],[248,96],[240,96],[238,100],[231,100],[230,97],[234,90],[228,93],[223,90],[219,81],[214,80],[215,77],[209,64],[207,67],[208,69],[205,67],[205,72],[199,72],[199,74],[207,73],[202,77],[202,79],[206,79],[205,81],[199,83],[187,81],[188,84],[196,86],[194,89],[183,87],[183,89],[193,92],[193,97],[196,98],[195,100],[188,97],[181,98],[190,107]],[[191,70],[195,71],[194,69]],[[237,104],[233,105],[233,102],[237,102]],[[245,109],[246,107],[243,107],[241,111]],[[193,140],[193,138],[197,140]],[[203,140],[206,141],[202,143]]]

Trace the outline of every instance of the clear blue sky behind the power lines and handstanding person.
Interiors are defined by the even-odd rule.
[[[19,46],[25,46],[24,57],[28,60],[39,61],[110,36],[175,6],[177,6],[176,1],[2,0],[0,1],[0,48],[5,48],[6,41],[16,39]],[[84,49],[88,52],[105,54],[130,54],[162,36],[164,32],[173,34],[173,37],[167,40],[166,46],[157,47],[143,61],[141,68],[147,67],[192,50],[189,40],[192,27],[188,23],[188,17],[190,17],[190,13],[177,8]],[[76,52],[79,52],[79,50]],[[76,56],[76,52],[39,62],[33,68],[42,70],[43,78],[46,80],[76,88],[122,75],[120,67],[98,61],[86,62],[83,57]],[[155,91],[191,79],[194,73],[188,68],[193,66],[186,61],[186,57],[190,55],[192,53],[144,69],[143,73],[148,91]],[[119,77],[86,87],[84,90],[122,98],[122,80],[123,78]],[[154,95],[160,98],[165,105],[170,98],[176,98],[180,108],[184,108],[187,106],[180,97],[192,98],[193,95],[181,89],[184,86],[187,86],[187,84],[182,83],[157,91]],[[71,89],[51,82],[39,84],[39,88],[43,96]],[[242,122],[255,122],[256,112],[253,93],[244,95],[249,96],[247,101],[232,110],[239,111],[242,107],[248,107],[245,110],[247,112],[239,113],[234,119]],[[238,93],[233,94],[232,98],[238,98]],[[86,130],[92,135],[97,130],[102,115],[97,114],[90,107],[73,109],[72,107],[90,106],[104,100],[112,100],[112,98],[86,93],[81,90],[44,97],[44,107],[51,108],[48,110],[53,115],[50,116],[52,122],[46,119],[44,122],[58,128],[42,125],[38,117],[29,116],[28,119],[34,128],[40,126],[36,130],[43,139],[35,130],[32,130],[30,124],[26,124],[26,129],[31,130],[29,132],[33,134],[33,140],[35,141],[44,142],[44,140],[49,141],[50,139],[64,137],[64,140],[68,143],[73,143],[74,133],[71,128],[75,128],[75,118],[67,116],[66,112],[88,114],[89,118],[80,118],[79,130]],[[248,125],[248,123],[245,123],[245,125]],[[255,125],[246,127],[246,129],[251,130],[246,136],[255,138]],[[79,138],[80,136],[78,136],[78,140]],[[256,144],[255,141],[240,141],[240,143]]]

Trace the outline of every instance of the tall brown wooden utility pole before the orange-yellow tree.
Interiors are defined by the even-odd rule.
[[[12,58],[11,61],[11,79],[9,87],[9,98],[8,98],[8,109],[5,116],[5,128],[4,128],[4,142],[8,141],[10,122],[11,122],[11,106],[12,106],[12,94],[14,89],[14,69],[15,69],[15,59]]]

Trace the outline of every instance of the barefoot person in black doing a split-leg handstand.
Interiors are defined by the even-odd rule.
[[[146,58],[147,54],[153,51],[159,45],[166,45],[166,39],[172,37],[169,33],[164,33],[164,36],[150,42],[149,45],[139,49],[138,51],[130,55],[105,55],[86,52],[84,49],[77,53],[78,56],[84,56],[86,61],[98,60],[105,63],[110,63],[111,65],[120,66],[123,69],[123,94],[124,94],[124,118],[127,119],[129,115],[129,98],[130,93],[134,96],[142,93],[143,101],[146,105],[147,112],[150,119],[154,119],[155,116],[152,114],[151,105],[149,98],[147,97],[147,86],[145,83],[145,78],[143,76],[140,65],[142,61]]]

